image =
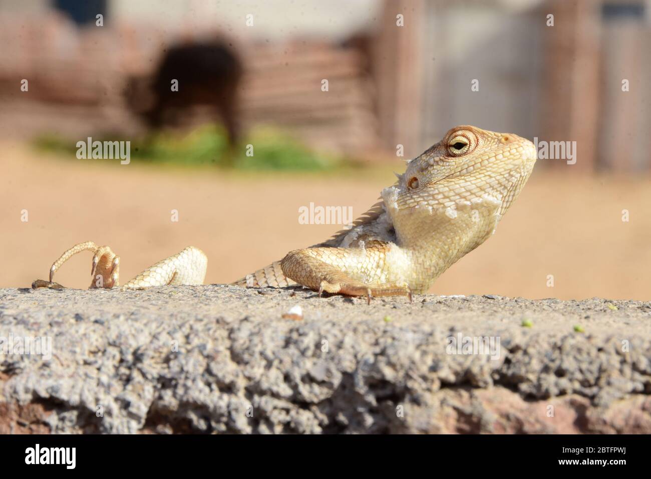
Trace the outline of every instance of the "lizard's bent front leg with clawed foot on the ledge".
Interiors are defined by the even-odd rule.
[[[370,248],[305,248],[288,253],[281,261],[283,273],[319,295],[407,296],[409,285],[387,268],[391,246]]]

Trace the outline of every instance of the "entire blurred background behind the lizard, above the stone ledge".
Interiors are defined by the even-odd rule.
[[[648,299],[650,44],[648,0],[0,0],[0,287],[83,240],[123,283],[189,244],[231,282],[340,229],[300,207],[359,216],[473,124],[576,163],[538,160],[432,292]],[[88,137],[130,164],[78,159]]]

